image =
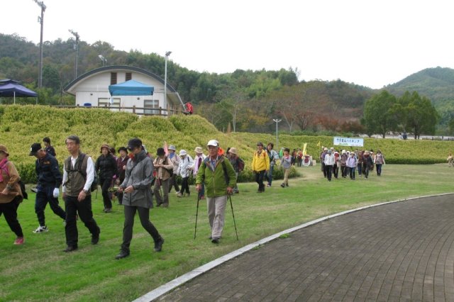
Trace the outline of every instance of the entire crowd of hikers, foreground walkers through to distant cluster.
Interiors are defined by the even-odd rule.
[[[132,138],[126,147],[113,147],[103,144],[99,148],[100,155],[96,161],[80,150],[80,139],[70,135],[65,140],[69,156],[63,163],[63,173],[55,158],[55,149],[50,144],[50,138],[43,139],[44,147],[35,142],[31,145],[29,155],[36,157],[35,172],[38,185],[34,189],[35,213],[38,218],[38,228],[33,233],[48,232],[45,224],[45,207],[49,203],[52,211],[62,218],[65,225],[67,247],[64,252],[78,249],[77,220],[80,219],[92,235],[91,243],[99,242],[101,228],[94,220],[92,212],[92,192],[101,188],[104,203],[104,213],[111,213],[114,196],[123,205],[124,225],[123,241],[116,259],[128,257],[129,246],[133,237],[135,213],[138,213],[143,228],[153,237],[154,250],[160,252],[164,238],[150,222],[150,208],[153,208],[153,196],[157,207],[169,207],[169,194],[173,188],[178,198],[190,196],[189,178],[195,179],[197,202],[206,199],[209,225],[211,227],[211,242],[219,243],[223,232],[226,202],[230,194],[239,194],[236,181],[243,171],[245,163],[238,156],[236,147],[224,151],[217,140],[209,140],[204,148],[196,147],[194,157],[187,150],[179,150],[175,145],[157,148],[155,157],[150,155],[139,138]],[[116,151],[118,156],[116,156]],[[298,153],[297,153],[298,155]],[[0,215],[3,213],[9,227],[16,234],[15,245],[24,242],[23,231],[17,218],[17,209],[25,192],[20,186],[20,176],[9,159],[5,145],[0,145]],[[280,152],[274,150],[269,142],[267,146],[257,143],[253,154],[252,171],[258,183],[258,193],[265,187],[272,186],[273,170],[283,169],[284,179],[280,186],[289,186],[289,174],[295,164],[295,157],[289,148],[282,147]],[[320,155],[323,175],[331,181],[331,175],[355,179],[358,174],[368,177],[374,164],[377,175],[381,175],[384,156],[380,150],[340,153],[334,148],[323,148]],[[177,182],[181,179],[181,187]],[[265,181],[265,182],[264,182]],[[62,198],[65,210],[60,207],[58,197],[62,186]]]

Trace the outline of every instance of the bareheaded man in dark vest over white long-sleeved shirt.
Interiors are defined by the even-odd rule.
[[[77,250],[77,223],[76,215],[92,233],[92,245],[99,242],[101,230],[93,218],[92,195],[90,186],[94,179],[94,162],[92,157],[80,152],[80,139],[77,135],[70,135],[66,139],[66,147],[70,157],[65,160],[63,168],[63,199],[66,208],[66,243],[64,252]]]

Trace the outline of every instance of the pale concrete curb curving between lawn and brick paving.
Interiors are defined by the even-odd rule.
[[[168,292],[172,291],[173,289],[177,288],[178,286],[181,286],[182,284],[186,283],[187,281],[189,281],[191,279],[194,279],[196,276],[199,276],[200,274],[204,274],[204,273],[208,272],[209,270],[214,269],[214,267],[217,267],[218,265],[223,264],[224,262],[227,262],[228,260],[231,260],[231,259],[233,259],[235,257],[240,256],[240,255],[243,255],[243,253],[248,252],[250,250],[253,250],[255,247],[259,247],[260,245],[264,245],[267,242],[275,240],[275,239],[279,238],[279,236],[281,236],[281,235],[292,233],[292,232],[295,232],[297,230],[301,230],[302,228],[307,228],[308,226],[315,225],[316,223],[320,223],[321,221],[328,220],[328,219],[331,219],[331,218],[335,218],[337,216],[342,216],[342,215],[345,215],[345,214],[348,214],[348,213],[353,213],[353,212],[356,212],[356,211],[365,210],[367,208],[373,208],[373,207],[376,207],[376,206],[385,206],[385,205],[387,205],[389,203],[397,203],[397,202],[401,202],[401,201],[411,201],[411,200],[419,199],[419,198],[427,198],[427,197],[434,197],[434,196],[444,196],[444,195],[451,195],[451,194],[454,194],[454,193],[418,196],[418,197],[412,197],[412,198],[398,199],[396,201],[387,201],[387,202],[384,202],[384,203],[376,203],[376,204],[372,204],[370,206],[362,206],[360,208],[353,208],[353,209],[348,210],[348,211],[343,211],[341,213],[336,213],[336,214],[333,214],[333,215],[330,215],[330,216],[325,216],[325,217],[322,217],[322,218],[319,218],[319,219],[316,219],[316,220],[309,221],[308,223],[303,223],[301,225],[297,225],[294,228],[289,228],[287,230],[283,230],[282,232],[276,233],[275,235],[271,235],[269,237],[265,237],[265,238],[263,238],[261,240],[253,242],[253,243],[251,243],[249,245],[245,245],[244,247],[241,247],[238,250],[230,252],[227,255],[223,255],[222,257],[219,257],[218,259],[214,259],[213,261],[211,261],[211,262],[209,262],[207,264],[204,264],[201,267],[197,267],[196,269],[192,270],[191,272],[188,272],[188,273],[186,273],[186,274],[184,274],[182,276],[179,276],[176,279],[173,279],[170,282],[167,282],[167,284],[164,284],[164,285],[158,287],[157,289],[154,289],[153,291],[145,293],[145,295],[135,299],[133,302],[153,301],[153,300],[159,298],[160,296],[164,295],[165,293],[168,293]]]

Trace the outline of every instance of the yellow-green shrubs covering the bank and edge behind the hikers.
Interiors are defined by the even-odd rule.
[[[275,142],[275,135],[253,133],[222,133],[200,116],[144,116],[118,113],[106,109],[62,109],[49,106],[0,106],[0,143],[9,149],[10,159],[16,163],[21,177],[35,181],[35,157],[28,156],[33,142],[42,142],[49,136],[60,163],[68,156],[65,138],[76,134],[82,140],[82,150],[95,159],[103,143],[118,147],[126,145],[130,138],[143,140],[148,151],[155,153],[165,141],[185,149],[194,155],[196,146],[204,147],[210,139],[217,139],[224,150],[237,147],[240,157],[246,161],[246,173],[241,180],[251,180],[250,160],[258,141]],[[329,136],[279,135],[279,146],[291,149],[308,143],[308,152],[318,159],[320,142],[333,145]],[[366,149],[381,149],[387,163],[428,164],[445,162],[448,152],[454,150],[454,142],[430,140],[381,140],[365,138]],[[279,173],[279,172],[277,172]]]

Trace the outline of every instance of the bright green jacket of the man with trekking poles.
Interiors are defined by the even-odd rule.
[[[224,173],[223,163],[226,173]],[[213,171],[214,170],[214,171]],[[226,182],[228,176],[228,184]],[[209,157],[201,163],[196,176],[196,184],[205,183],[205,194],[208,197],[219,197],[227,195],[227,187],[233,188],[236,185],[236,173],[229,160],[223,155],[218,156],[213,169]]]

